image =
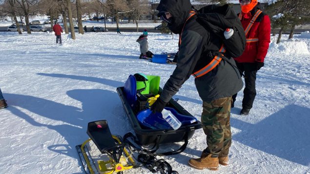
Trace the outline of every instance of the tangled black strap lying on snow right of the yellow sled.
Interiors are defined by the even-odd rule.
[[[152,155],[140,154],[138,155],[138,161],[153,174],[157,172],[161,174],[179,174],[177,171],[172,170],[171,165],[167,161],[157,159]]]

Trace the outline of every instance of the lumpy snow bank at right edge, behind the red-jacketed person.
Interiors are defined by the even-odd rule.
[[[310,36],[310,35],[309,35]],[[286,55],[309,55],[307,44],[304,41],[299,40],[281,40],[280,43],[276,43],[276,38],[269,45],[269,52],[275,54]]]

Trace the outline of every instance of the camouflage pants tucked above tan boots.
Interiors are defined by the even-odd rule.
[[[207,154],[227,156],[231,145],[230,132],[231,97],[211,102],[204,101],[201,123],[207,135]]]

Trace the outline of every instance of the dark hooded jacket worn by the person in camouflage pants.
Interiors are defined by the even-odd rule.
[[[172,15],[168,27],[173,33],[180,34],[181,38],[177,66],[160,96],[168,102],[192,73],[213,59],[210,53],[219,51],[222,40],[201,26],[197,22],[197,15],[188,19],[192,11],[189,0],[161,0],[157,10],[159,16],[165,15],[165,12]],[[229,62],[235,65],[233,58]],[[195,85],[203,101],[212,101],[236,94],[242,89],[243,82],[238,70],[222,60],[212,71],[195,78]]]

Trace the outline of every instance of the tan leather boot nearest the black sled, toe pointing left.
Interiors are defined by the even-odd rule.
[[[212,154],[210,154],[202,158],[190,159],[188,165],[199,170],[209,169],[216,171],[219,169],[219,159],[218,157],[212,157]]]

